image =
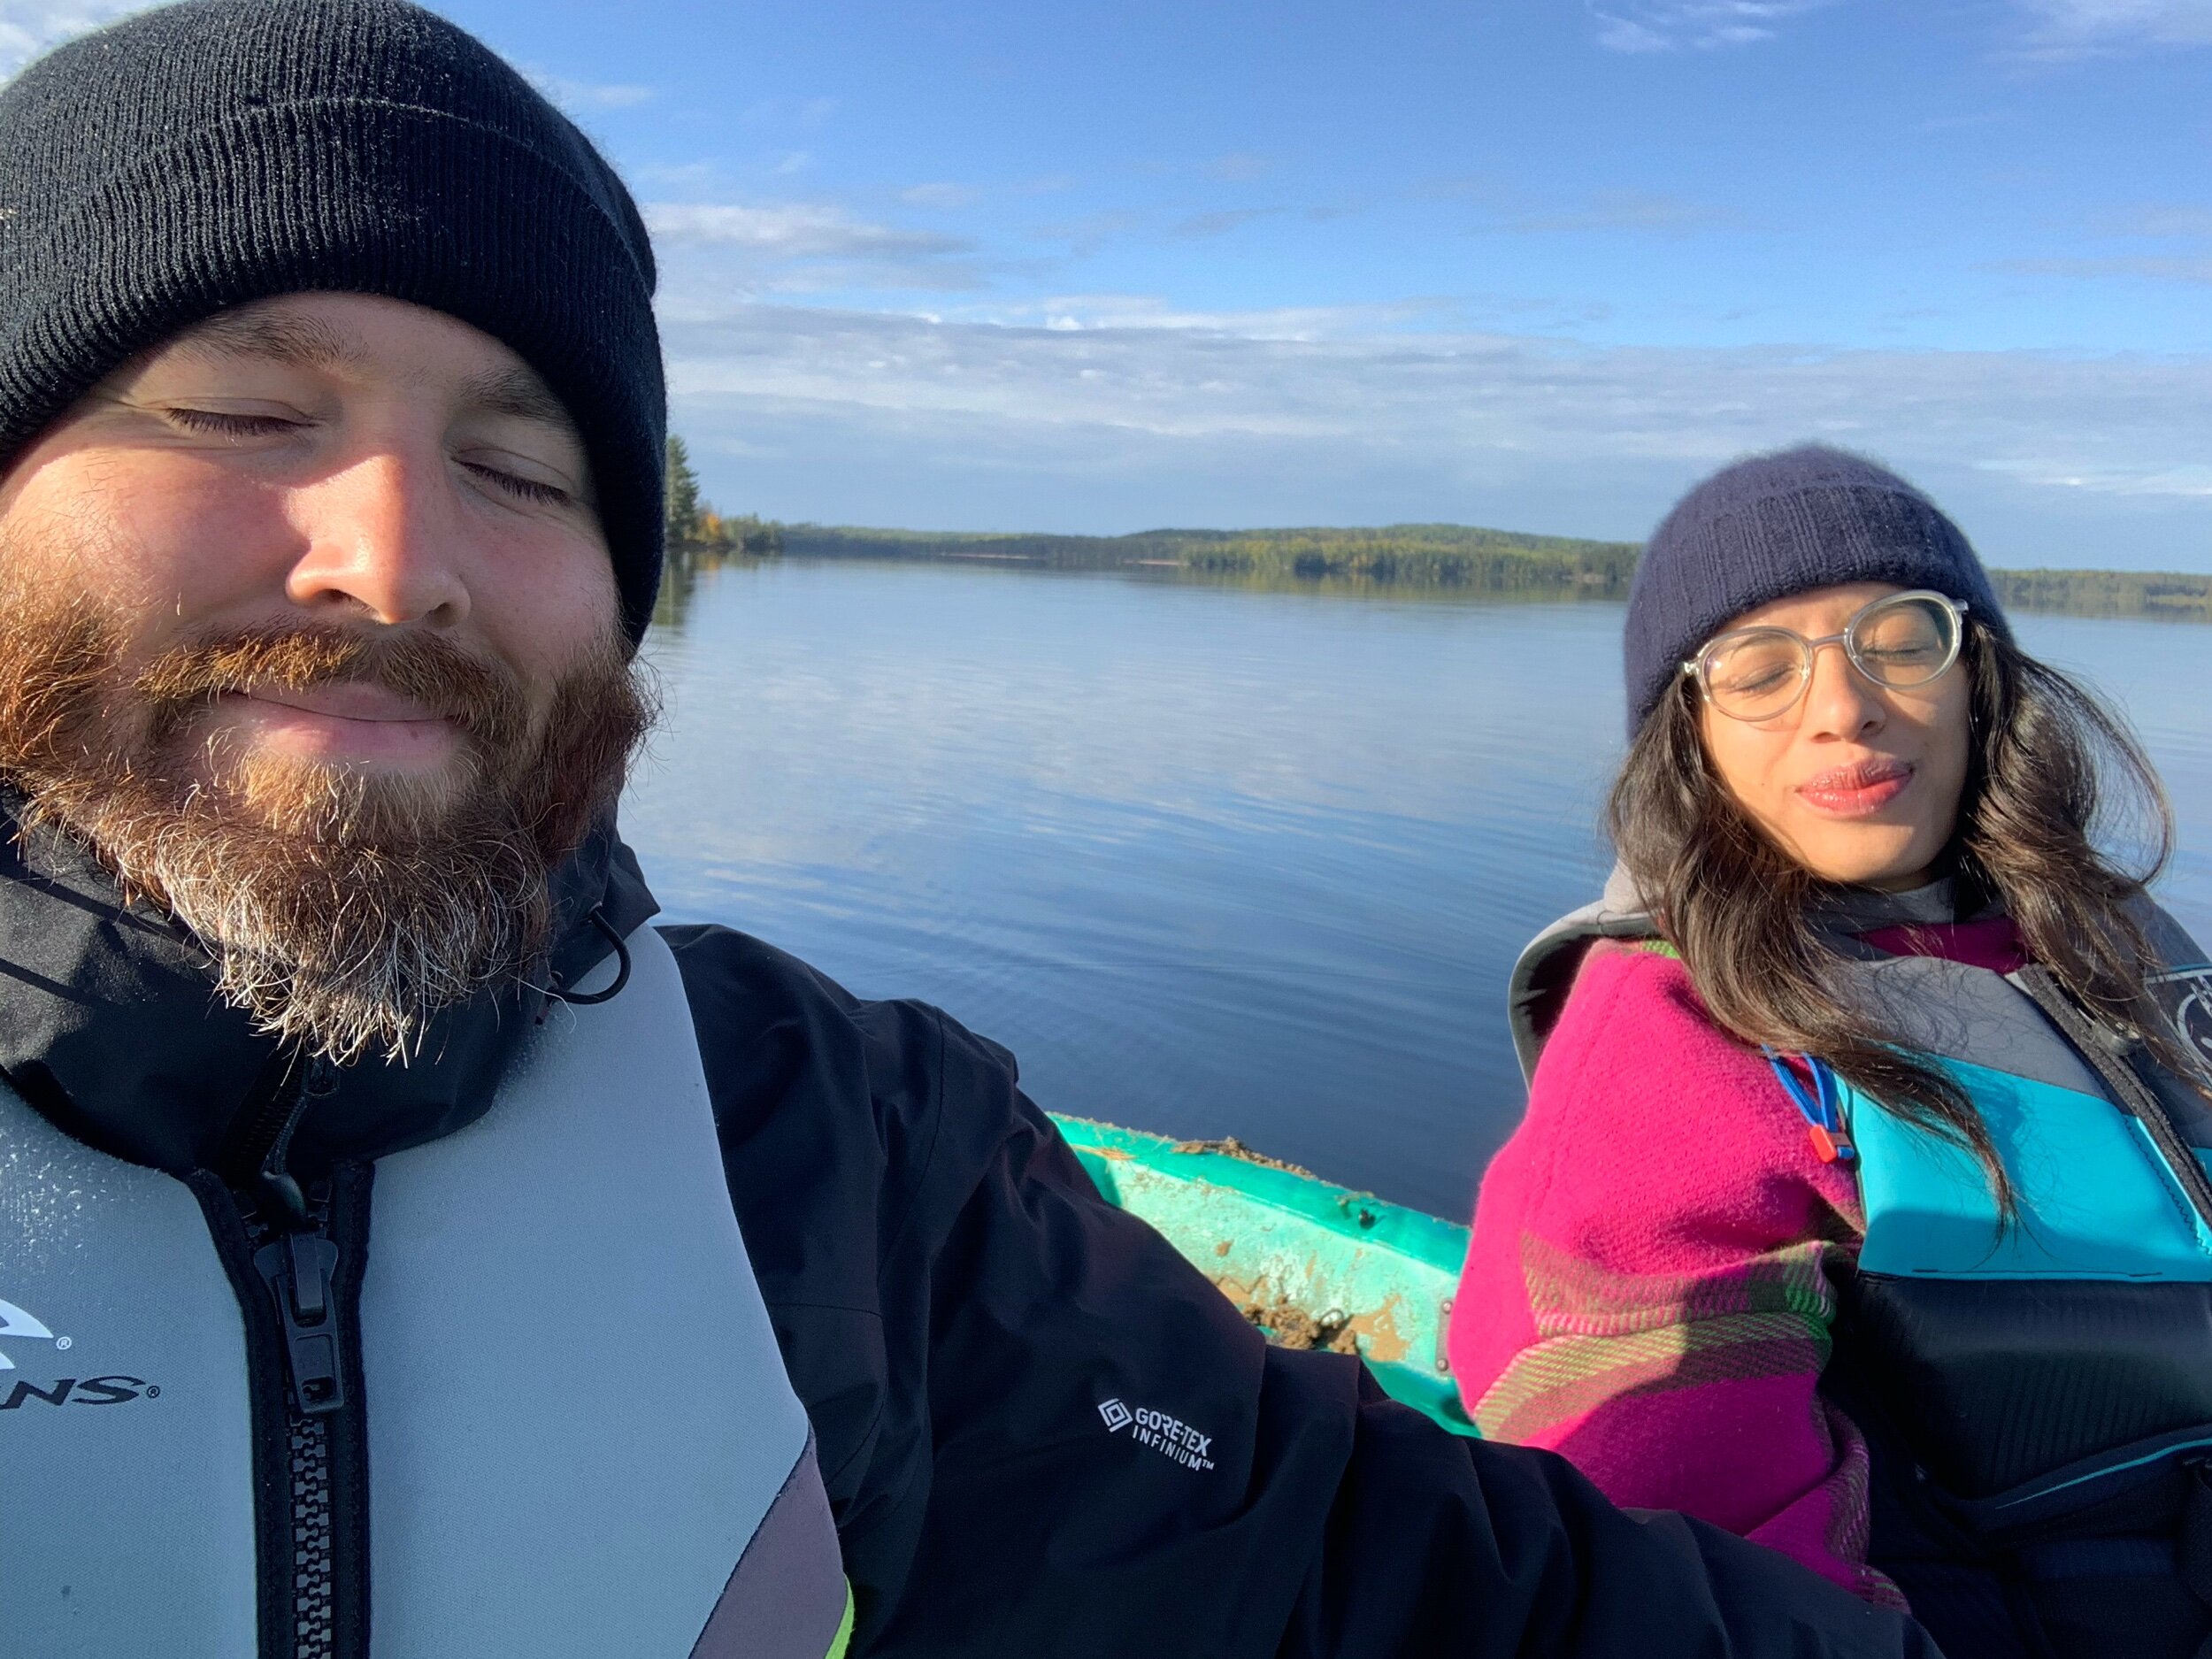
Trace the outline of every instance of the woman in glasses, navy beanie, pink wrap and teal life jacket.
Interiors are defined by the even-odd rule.
[[[1619,867],[1513,978],[1469,1411],[1951,1659],[2212,1652],[2212,967],[2146,759],[1834,449],[1683,498],[1626,670]]]

